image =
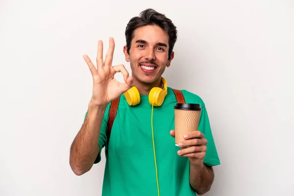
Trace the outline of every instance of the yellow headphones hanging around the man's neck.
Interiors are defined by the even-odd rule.
[[[161,106],[165,96],[168,94],[167,81],[161,77],[161,82],[163,84],[163,89],[154,87],[149,92],[150,105],[153,104],[154,106]],[[134,106],[140,103],[140,93],[135,86],[130,88],[123,95],[125,96],[125,99],[130,106]]]

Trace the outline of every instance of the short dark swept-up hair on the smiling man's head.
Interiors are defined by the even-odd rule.
[[[157,25],[169,34],[169,59],[171,58],[172,49],[177,39],[177,29],[172,21],[164,14],[156,12],[153,9],[146,9],[139,16],[131,18],[125,28],[125,39],[127,53],[129,54],[131,40],[134,37],[136,28],[145,25]]]

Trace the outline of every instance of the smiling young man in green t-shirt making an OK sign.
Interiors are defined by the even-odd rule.
[[[162,74],[174,57],[176,34],[172,21],[152,9],[132,18],[126,26],[123,48],[132,76],[123,65],[112,66],[112,38],[105,62],[103,45],[98,41],[97,69],[84,55],[93,76],[93,96],[73,141],[70,165],[76,175],[88,172],[100,161],[101,148],[105,147],[102,196],[195,196],[210,190],[212,166],[219,165],[220,160],[205,104],[185,90],[180,92],[186,103],[198,103],[202,108],[199,126],[179,147],[174,142],[173,106],[177,98]],[[114,78],[117,72],[123,74],[125,83]],[[152,98],[149,101],[154,87],[167,91],[158,106]],[[130,97],[133,99],[128,100]],[[119,101],[117,113],[109,124],[114,118],[109,118],[109,113],[115,100]]]

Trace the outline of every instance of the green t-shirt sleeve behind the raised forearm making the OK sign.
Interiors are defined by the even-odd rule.
[[[108,113],[109,113],[109,105],[107,106],[104,116],[103,116],[103,120],[101,123],[101,128],[100,128],[100,136],[99,136],[99,142],[98,145],[100,147],[100,150],[98,152],[98,155],[96,157],[96,160],[94,161],[94,164],[97,164],[101,161],[101,150],[103,147],[107,148],[107,130],[108,130]],[[85,114],[85,118],[86,119],[88,114],[88,111]]]

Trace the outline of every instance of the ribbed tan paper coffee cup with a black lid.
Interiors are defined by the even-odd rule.
[[[177,103],[173,108],[175,146],[178,146],[185,140],[185,134],[198,130],[201,107],[195,103]]]

